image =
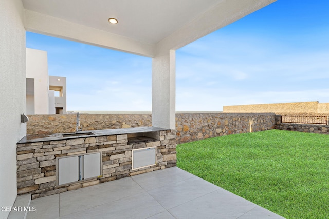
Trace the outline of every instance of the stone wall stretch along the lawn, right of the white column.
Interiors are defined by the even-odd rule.
[[[273,113],[176,114],[177,144],[228,134],[274,129]]]

